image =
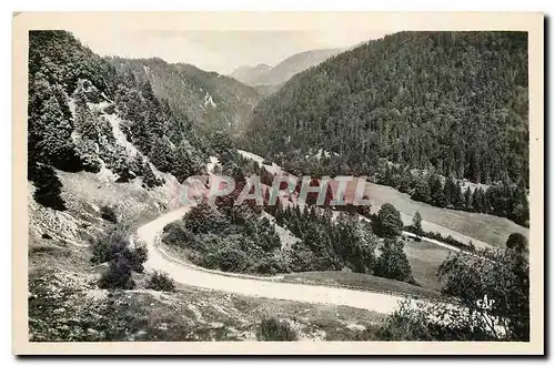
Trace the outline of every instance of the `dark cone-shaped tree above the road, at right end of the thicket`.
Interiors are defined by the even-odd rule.
[[[396,281],[414,283],[411,264],[403,251],[404,243],[396,238],[386,238],[381,247],[382,254],[376,260],[374,275]]]

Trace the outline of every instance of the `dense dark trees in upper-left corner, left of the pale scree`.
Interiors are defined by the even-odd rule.
[[[95,171],[83,165],[71,139],[69,95],[80,79],[111,95],[113,69],[64,31],[29,32],[29,164],[42,162],[60,170]],[[78,122],[80,122],[78,118]]]

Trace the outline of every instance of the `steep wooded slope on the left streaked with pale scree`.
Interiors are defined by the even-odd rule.
[[[191,124],[175,118],[150,83],[115,69],[65,31],[29,34],[28,179],[44,206],[64,210],[54,169],[110,171],[119,182],[155,171],[179,181],[203,171]]]

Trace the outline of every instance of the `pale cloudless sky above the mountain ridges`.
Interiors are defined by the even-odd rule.
[[[168,62],[230,74],[242,65],[276,65],[307,50],[350,48],[377,39],[383,31],[327,28],[317,30],[155,30],[108,28],[67,29],[100,55],[161,58]]]

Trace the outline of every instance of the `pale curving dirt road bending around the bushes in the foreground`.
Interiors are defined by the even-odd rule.
[[[347,288],[289,284],[263,278],[254,279],[252,276],[228,276],[172,261],[159,251],[155,245],[157,238],[167,224],[181,218],[189,209],[183,206],[171,211],[138,230],[139,238],[149,250],[147,270],[163,271],[178,283],[214,291],[303,303],[346,305],[381,314],[391,314],[397,307],[398,301],[403,299],[402,296]]]

